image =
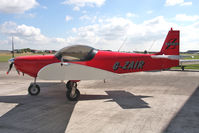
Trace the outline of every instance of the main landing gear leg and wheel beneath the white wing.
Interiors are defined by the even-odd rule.
[[[80,97],[80,92],[77,89],[77,82],[78,81],[68,81],[66,84],[66,97],[70,101],[78,101]]]

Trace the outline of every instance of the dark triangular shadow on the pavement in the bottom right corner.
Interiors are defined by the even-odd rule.
[[[199,131],[199,86],[173,117],[165,133],[198,133]]]

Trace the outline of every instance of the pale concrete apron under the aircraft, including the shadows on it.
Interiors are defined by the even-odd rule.
[[[0,63],[0,133],[198,133],[199,72],[162,71],[81,81],[81,99],[65,98],[61,82],[33,81]]]

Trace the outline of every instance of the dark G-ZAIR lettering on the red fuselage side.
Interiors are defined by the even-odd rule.
[[[115,62],[113,65],[113,70],[116,71],[119,68],[123,70],[140,70],[143,69],[145,62],[143,60],[141,61],[126,61],[124,65],[121,65],[120,62]]]

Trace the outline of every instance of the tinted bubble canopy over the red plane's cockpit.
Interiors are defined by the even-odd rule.
[[[72,45],[64,47],[55,53],[55,56],[64,62],[89,61],[94,58],[98,51],[90,46]]]

